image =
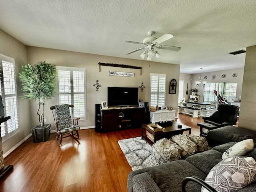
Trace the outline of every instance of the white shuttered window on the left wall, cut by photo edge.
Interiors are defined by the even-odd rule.
[[[14,59],[0,54],[1,96],[5,116],[11,118],[1,124],[2,140],[7,140],[19,132],[17,88]]]

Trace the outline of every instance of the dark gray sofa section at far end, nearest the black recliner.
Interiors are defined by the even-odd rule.
[[[228,142],[240,142],[250,138],[254,141],[254,148],[256,147],[256,131],[231,125],[210,130],[207,134],[207,138],[208,144],[211,147]]]

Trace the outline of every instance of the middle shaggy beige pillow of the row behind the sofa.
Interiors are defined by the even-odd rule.
[[[192,142],[186,134],[174,135],[172,136],[172,141],[178,144],[181,149],[181,155],[184,158],[196,153],[196,144],[194,144],[194,142]]]

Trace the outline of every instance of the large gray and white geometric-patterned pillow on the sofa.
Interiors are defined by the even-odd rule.
[[[230,157],[210,170],[205,182],[217,192],[235,192],[256,181],[256,162],[252,157]],[[201,192],[208,192],[202,187]]]

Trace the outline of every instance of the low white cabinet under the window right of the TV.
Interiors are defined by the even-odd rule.
[[[152,123],[159,121],[173,121],[175,120],[175,110],[158,110],[156,112],[150,112],[150,121]]]

